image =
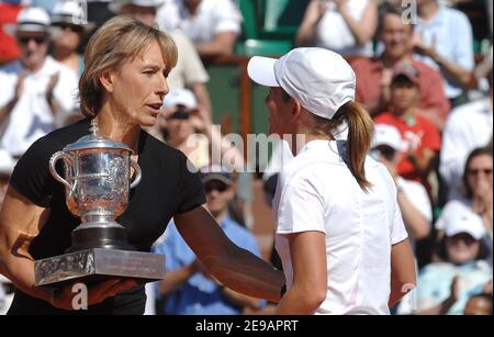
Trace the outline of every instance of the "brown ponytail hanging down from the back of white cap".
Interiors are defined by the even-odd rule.
[[[370,149],[374,124],[369,113],[360,104],[349,101],[336,113],[346,116],[348,123],[347,151],[349,169],[362,190],[371,187],[366,178],[366,156]]]

